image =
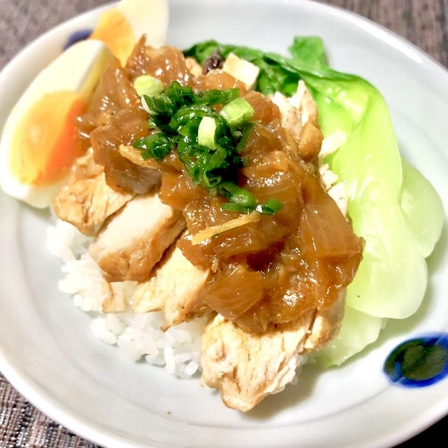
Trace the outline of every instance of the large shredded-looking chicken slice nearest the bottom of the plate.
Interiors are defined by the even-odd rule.
[[[216,316],[202,337],[202,384],[217,388],[226,406],[252,409],[266,395],[283,391],[302,355],[335,337],[343,309],[341,296],[328,311],[309,311],[261,335]]]

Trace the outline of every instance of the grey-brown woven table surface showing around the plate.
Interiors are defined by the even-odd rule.
[[[0,69],[43,31],[104,0],[0,0]],[[448,0],[328,0],[395,31],[448,67]],[[1,366],[0,366],[1,367]],[[448,417],[400,448],[443,440]],[[438,437],[440,435],[440,438]],[[50,420],[0,374],[0,447],[97,448]]]

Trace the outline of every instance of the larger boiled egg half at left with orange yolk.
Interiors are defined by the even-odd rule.
[[[111,58],[104,43],[83,41],[34,78],[1,136],[0,183],[6,193],[34,207],[50,205],[80,155],[75,118]]]

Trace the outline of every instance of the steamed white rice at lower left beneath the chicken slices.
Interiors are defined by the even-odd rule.
[[[200,370],[201,340],[207,316],[184,322],[163,332],[160,311],[136,314],[132,311],[103,313],[102,303],[109,287],[101,269],[87,252],[92,238],[57,218],[47,231],[47,248],[63,262],[64,278],[59,289],[73,297],[73,303],[92,316],[90,328],[98,339],[118,346],[131,360],[160,365],[178,377],[191,377]],[[135,281],[112,283],[132,307]]]

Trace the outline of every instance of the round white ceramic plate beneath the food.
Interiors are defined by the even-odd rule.
[[[0,127],[31,77],[99,11],[52,29],[0,75]],[[173,0],[169,43],[204,38],[286,52],[296,34],[322,36],[336,69],[379,87],[400,149],[432,181],[448,210],[448,73],[371,22],[309,1]],[[59,263],[43,246],[48,215],[0,195],[0,368],[52,419],[106,447],[386,447],[448,412],[448,380],[427,388],[391,385],[386,355],[403,339],[448,330],[447,230],[428,262],[418,314],[391,322],[378,342],[341,368],[307,367],[248,414],[227,409],[197,379],[177,380],[132,363],[93,339],[90,318],[57,291]],[[428,217],[430,219],[430,217]]]

